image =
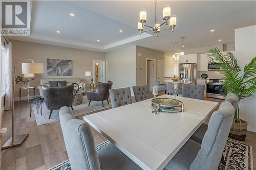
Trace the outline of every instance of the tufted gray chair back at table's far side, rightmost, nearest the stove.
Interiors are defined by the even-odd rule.
[[[185,98],[204,100],[204,85],[182,84],[182,94]]]

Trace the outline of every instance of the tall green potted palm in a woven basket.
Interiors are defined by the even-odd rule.
[[[221,51],[215,47],[208,52],[208,59],[211,63],[221,66],[221,74],[223,75],[223,95],[227,92],[236,94],[239,98],[238,107],[234,115],[233,124],[229,133],[229,137],[237,140],[245,140],[247,122],[239,118],[240,101],[249,98],[256,92],[256,57],[245,65],[243,71],[238,65],[236,57],[232,53],[227,52],[223,55]]]

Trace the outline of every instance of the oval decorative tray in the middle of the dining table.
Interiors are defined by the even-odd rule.
[[[155,99],[152,99],[151,106],[155,108]],[[156,109],[163,112],[183,112],[181,101],[169,98],[156,98]]]

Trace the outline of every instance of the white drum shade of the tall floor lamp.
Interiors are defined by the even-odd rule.
[[[22,74],[40,74],[44,73],[43,63],[22,63]]]

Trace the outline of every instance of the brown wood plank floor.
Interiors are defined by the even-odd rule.
[[[210,98],[205,98],[205,100],[223,102],[223,100]],[[135,102],[134,98],[133,102]],[[35,116],[32,114],[30,117],[29,111],[27,101],[16,102],[15,135],[29,133],[29,136],[20,147],[6,149],[1,152],[1,169],[48,169],[68,159],[59,122],[36,126]],[[79,119],[82,119],[82,117],[83,115],[77,116]],[[2,144],[11,136],[11,111],[6,111],[2,116],[2,128],[4,127],[8,129],[6,133],[2,134]],[[93,128],[92,130],[95,145],[106,140]],[[253,149],[256,148],[256,133],[247,132],[246,140],[243,142],[252,145]],[[256,150],[253,150],[253,162],[256,163]],[[255,163],[253,169],[256,169]]]

